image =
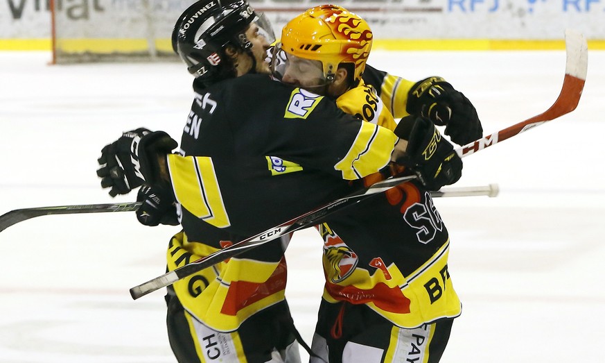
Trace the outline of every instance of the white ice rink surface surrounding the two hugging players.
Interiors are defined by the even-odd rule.
[[[465,158],[457,186],[498,183],[497,198],[436,199],[464,305],[442,362],[603,359],[605,53],[588,58],[577,110]],[[49,66],[49,59],[0,53],[0,214],[132,201],[99,187],[100,149],[139,126],[178,139],[191,76],[177,62]],[[444,76],[493,133],[552,104],[565,54],[375,51],[370,63],[410,79]],[[164,272],[176,231],[141,226],[132,212],[38,217],[4,230],[0,362],[175,362],[164,292],[132,301],[128,289]],[[321,249],[314,231],[302,231],[287,252],[287,295],[307,341],[322,292]]]

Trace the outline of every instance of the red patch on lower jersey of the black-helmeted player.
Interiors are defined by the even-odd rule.
[[[244,307],[280,292],[286,288],[286,275],[286,260],[282,258],[270,278],[262,284],[247,281],[231,282],[225,296],[225,303],[220,310],[221,314],[236,316]]]

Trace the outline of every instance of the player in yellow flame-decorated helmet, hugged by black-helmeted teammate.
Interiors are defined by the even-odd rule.
[[[361,17],[317,6],[284,26],[273,73],[394,130],[390,112],[361,78],[371,42]],[[397,128],[410,140],[398,161],[412,167],[417,160],[410,155],[426,146],[423,137],[441,137],[436,130],[429,135],[434,127],[421,117],[405,117]],[[313,351],[324,361],[439,362],[461,305],[447,268],[448,232],[428,192],[437,185],[427,184],[406,183],[318,226],[326,285]]]

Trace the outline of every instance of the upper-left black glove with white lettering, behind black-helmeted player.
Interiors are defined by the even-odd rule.
[[[128,194],[147,180],[149,184],[159,179],[157,155],[175,149],[177,142],[164,131],[152,132],[146,128],[128,131],[101,150],[100,165],[96,174],[101,187],[111,188],[110,196]]]

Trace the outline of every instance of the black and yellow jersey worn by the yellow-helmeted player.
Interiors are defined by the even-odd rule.
[[[360,83],[336,102],[351,115],[394,129],[380,101],[373,87]],[[382,178],[372,174],[365,181]],[[448,230],[421,184],[389,189],[317,229],[324,239],[323,297],[329,303],[365,304],[403,328],[460,314],[448,272]]]

